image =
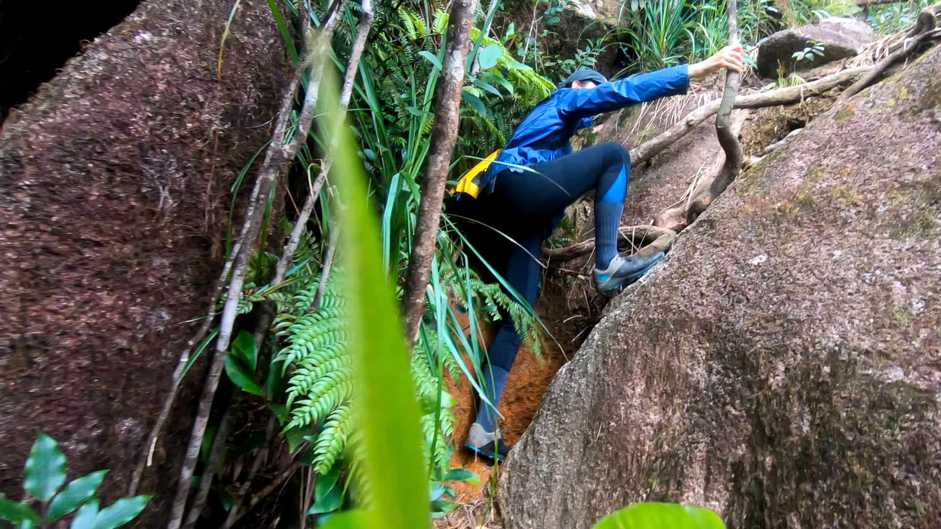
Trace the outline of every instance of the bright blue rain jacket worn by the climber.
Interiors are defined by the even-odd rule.
[[[681,64],[595,88],[559,88],[519,124],[503,152],[487,168],[480,187],[492,190],[497,174],[503,170],[522,172],[501,162],[532,167],[572,152],[568,138],[575,131],[590,127],[597,114],[685,94],[689,87],[689,65]]]

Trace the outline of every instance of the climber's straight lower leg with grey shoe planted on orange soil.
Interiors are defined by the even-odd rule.
[[[506,251],[507,259],[499,271],[503,279],[518,292],[522,298],[520,301],[533,306],[539,287],[540,266],[536,259],[539,257],[542,238],[529,236],[515,240],[522,248],[509,243],[511,246]],[[467,442],[472,450],[498,460],[505,456],[506,447],[499,445],[502,436],[497,425],[496,408],[500,405],[503,387],[522,343],[522,337],[518,335],[510,314],[501,311],[501,317],[500,328],[487,349],[487,361],[481,366],[481,385],[486,392],[486,398],[493,406],[479,400],[477,417],[470,427]]]

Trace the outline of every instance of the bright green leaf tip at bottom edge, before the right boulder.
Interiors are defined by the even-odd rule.
[[[717,514],[700,507],[645,503],[630,505],[595,524],[594,529],[725,529]]]

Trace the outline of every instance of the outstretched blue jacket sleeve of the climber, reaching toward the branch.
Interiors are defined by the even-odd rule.
[[[631,104],[646,103],[690,88],[689,65],[681,64],[656,72],[642,73],[596,88],[568,88],[559,94],[557,108],[563,120],[582,120]]]

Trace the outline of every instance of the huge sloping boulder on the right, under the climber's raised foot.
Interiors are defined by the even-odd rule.
[[[508,529],[635,502],[941,526],[941,47],[813,120],[616,298],[502,470]]]

